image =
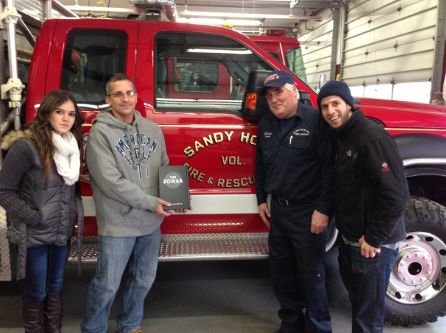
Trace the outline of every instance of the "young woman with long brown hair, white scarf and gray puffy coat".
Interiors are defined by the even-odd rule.
[[[82,235],[83,122],[73,96],[54,90],[43,98],[29,130],[9,133],[1,144],[8,154],[0,169],[0,205],[10,214],[13,274],[25,279],[25,332],[61,332],[62,280],[77,217]]]

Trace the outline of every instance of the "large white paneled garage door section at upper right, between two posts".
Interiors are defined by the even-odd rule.
[[[343,81],[428,81],[438,0],[354,0],[346,20]]]

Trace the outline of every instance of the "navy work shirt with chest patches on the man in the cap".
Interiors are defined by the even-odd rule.
[[[281,135],[280,120],[267,112],[260,119],[255,152],[257,204],[267,194],[286,200],[313,200],[329,215],[333,203],[332,128],[319,110],[298,103],[297,113]]]

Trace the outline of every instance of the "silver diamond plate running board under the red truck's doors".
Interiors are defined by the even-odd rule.
[[[98,237],[82,238],[82,261],[96,261]],[[244,260],[268,258],[268,233],[162,235],[160,261]],[[77,262],[73,237],[69,262]]]

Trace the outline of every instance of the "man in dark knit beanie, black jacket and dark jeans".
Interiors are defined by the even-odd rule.
[[[382,332],[385,294],[409,202],[403,161],[384,128],[356,108],[345,82],[320,89],[318,107],[336,129],[335,214],[339,270],[352,302],[352,332]]]

